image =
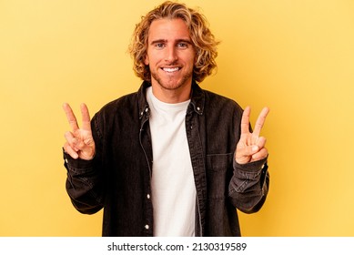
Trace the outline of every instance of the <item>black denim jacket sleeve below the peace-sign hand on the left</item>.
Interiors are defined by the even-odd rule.
[[[92,160],[71,158],[64,149],[64,166],[67,170],[66,192],[74,207],[85,214],[93,214],[103,208],[104,185],[100,165],[100,139],[97,137],[95,118],[91,121],[96,143],[96,155]]]

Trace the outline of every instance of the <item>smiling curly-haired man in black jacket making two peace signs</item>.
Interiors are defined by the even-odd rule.
[[[217,42],[197,11],[172,2],[142,17],[130,46],[144,82],[108,103],[64,146],[66,190],[77,210],[104,209],[103,236],[240,236],[237,209],[258,211],[268,194],[268,150],[244,111],[201,89]]]

